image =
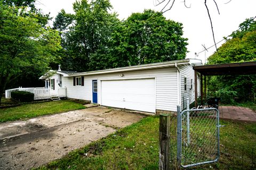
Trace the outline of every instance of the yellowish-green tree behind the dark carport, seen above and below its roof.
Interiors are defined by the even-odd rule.
[[[208,58],[208,64],[256,61],[256,21],[246,19],[227,38],[218,52]],[[256,75],[223,75],[209,79],[211,91],[233,94],[237,101],[252,100],[256,95]],[[232,98],[232,95],[230,96]]]

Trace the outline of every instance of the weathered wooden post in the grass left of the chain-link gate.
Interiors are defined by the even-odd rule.
[[[161,114],[159,120],[159,170],[170,169],[170,114]]]

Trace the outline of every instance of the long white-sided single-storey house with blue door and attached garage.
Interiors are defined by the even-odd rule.
[[[89,100],[102,106],[158,113],[176,112],[177,105],[194,101],[194,65],[201,60],[143,64],[90,72],[61,71],[45,80],[45,88],[58,95],[57,89],[66,87],[66,96]],[[199,84],[199,82],[197,83]],[[198,87],[199,94],[199,87]]]

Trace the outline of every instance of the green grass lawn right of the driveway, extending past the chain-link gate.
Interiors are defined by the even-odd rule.
[[[173,124],[175,121],[173,118]],[[158,169],[158,123],[158,116],[143,118],[38,169]],[[225,127],[220,130],[219,162],[197,169],[254,169],[256,123],[221,121],[221,124]]]

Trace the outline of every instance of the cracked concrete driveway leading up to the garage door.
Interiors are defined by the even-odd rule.
[[[145,116],[90,107],[0,124],[0,169],[30,169],[106,137]]]

